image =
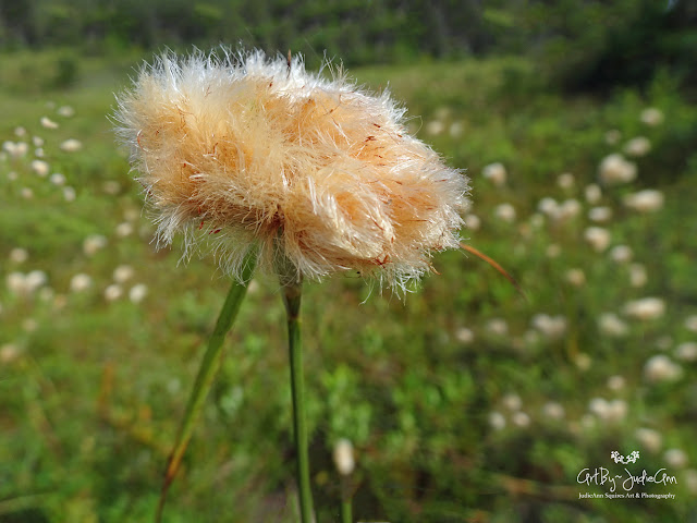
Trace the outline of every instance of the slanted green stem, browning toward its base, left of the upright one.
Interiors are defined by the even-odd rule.
[[[241,281],[234,280],[232,282],[230,291],[228,292],[228,297],[225,299],[222,309],[220,311],[220,315],[218,316],[213,333],[208,340],[208,348],[206,349],[204,360],[198,368],[198,375],[196,376],[192,393],[188,397],[184,418],[180,424],[174,448],[172,449],[167,463],[167,471],[164,473],[164,481],[160,492],[160,501],[155,518],[156,522],[161,521],[167,491],[174,479],[174,475],[179,471],[182,458],[184,457],[184,452],[186,451],[186,447],[192,437],[194,422],[204,405],[204,400],[206,399],[213,378],[222,363],[222,343],[225,339],[225,335],[232,328],[232,324],[237,317],[237,313],[240,312],[242,300],[247,292],[247,284],[252,280],[257,265],[257,254],[258,252],[256,247],[252,247],[247,253],[244,259]]]

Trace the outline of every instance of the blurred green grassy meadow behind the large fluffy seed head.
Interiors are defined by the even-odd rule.
[[[139,57],[72,58],[69,86],[50,69],[71,59],[60,52],[2,62],[0,141],[27,143],[28,151],[13,158],[5,148],[0,161],[0,522],[149,521],[228,288],[211,258],[183,266],[176,245],[157,252],[151,244],[139,187],[107,118]],[[695,107],[661,75],[644,92],[562,97],[543,88],[519,58],[350,73],[374,89],[389,85],[409,108],[413,131],[467,169],[480,227],[463,234],[516,277],[527,300],[463,253],[439,255],[440,273],[404,301],[379,295],[353,275],[308,285],[306,376],[320,520],[339,520],[331,450],[342,437],[357,449],[354,513],[360,520],[694,518],[696,362],[678,348],[697,336],[686,325],[697,314],[697,157],[687,146]],[[61,117],[64,106],[75,114]],[[662,111],[663,123],[640,121],[649,107]],[[41,126],[41,117],[59,127]],[[17,136],[20,126],[26,134]],[[612,145],[611,130],[621,135]],[[598,183],[602,158],[637,135],[652,145],[633,159],[637,181],[603,186],[601,199],[588,203],[584,191]],[[68,138],[82,149],[61,150]],[[37,148],[64,185],[33,171]],[[508,171],[501,186],[481,174],[494,161]],[[573,173],[565,188],[557,182],[562,172]],[[623,205],[626,194],[645,187],[663,192],[662,209],[640,214]],[[575,199],[579,211],[545,216],[542,197]],[[513,205],[513,220],[497,215],[501,204]],[[600,223],[612,236],[602,252],[584,240],[595,224],[587,212],[598,206],[612,211]],[[95,234],[106,245],[89,254],[85,241]],[[645,284],[633,287],[632,266],[612,259],[616,245],[632,248]],[[26,260],[17,260],[17,248]],[[108,300],[105,293],[117,289],[107,291],[114,270],[124,265],[134,273],[118,283],[122,295]],[[584,283],[568,281],[572,268],[583,271]],[[33,270],[46,273],[39,289],[12,287],[12,273]],[[91,285],[74,292],[78,273]],[[147,295],[134,303],[129,293],[137,283],[147,285]],[[294,521],[277,287],[259,276],[243,305],[172,486],[167,521]],[[628,301],[645,296],[659,296],[665,313],[638,320],[624,312]],[[627,331],[612,337],[600,329],[602,313],[616,314]],[[547,331],[539,314],[560,316],[561,333]],[[677,379],[649,379],[646,365],[657,354],[680,365]],[[592,402],[598,398],[604,406]],[[550,415],[550,404],[562,414]],[[660,435],[660,445],[647,446],[639,428]],[[576,482],[582,469],[608,466],[611,450],[634,449],[647,470],[667,467],[677,476],[677,486],[665,488],[676,500],[578,499],[586,490]],[[669,463],[669,449],[681,450],[687,463]]]

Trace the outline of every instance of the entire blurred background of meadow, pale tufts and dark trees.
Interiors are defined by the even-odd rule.
[[[229,281],[156,251],[108,115],[166,47],[343,62],[466,169],[465,253],[304,302],[319,521],[697,521],[697,4],[0,3],[0,522],[151,521]],[[296,521],[283,309],[259,276],[168,522]],[[675,499],[579,499],[612,451]],[[597,483],[600,483],[598,481]]]

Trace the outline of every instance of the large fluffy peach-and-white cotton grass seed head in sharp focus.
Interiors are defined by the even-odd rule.
[[[402,288],[458,247],[466,178],[407,133],[387,92],[341,71],[260,51],[166,53],[118,105],[158,242],[183,232],[185,256],[209,244],[232,276],[255,243],[272,267],[278,242],[298,278],[358,270]]]

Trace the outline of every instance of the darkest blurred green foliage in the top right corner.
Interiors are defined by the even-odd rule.
[[[646,86],[657,68],[685,86],[697,81],[695,2],[530,2],[522,14],[541,40],[539,63],[552,85],[608,93],[616,85]]]

